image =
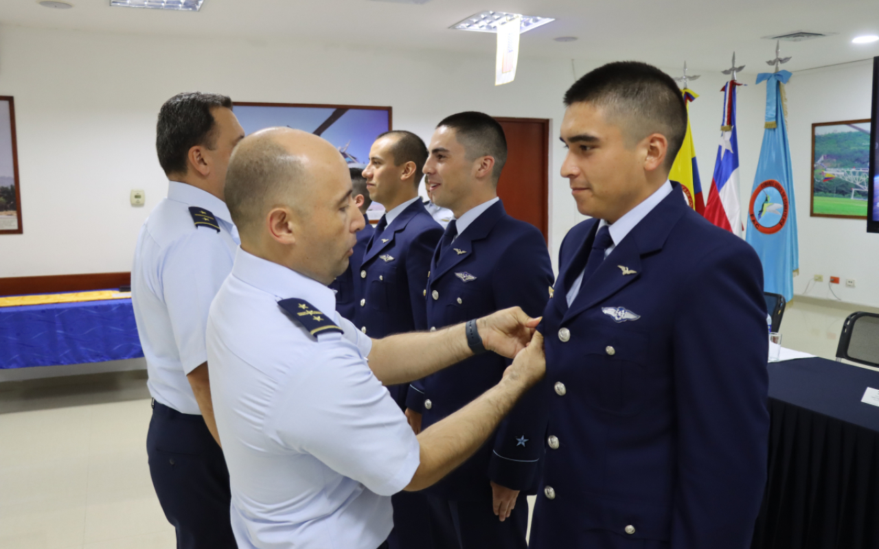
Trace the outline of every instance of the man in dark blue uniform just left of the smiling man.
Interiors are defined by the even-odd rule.
[[[418,196],[426,160],[425,142],[405,131],[381,134],[369,150],[369,164],[363,170],[367,190],[386,212],[354,271],[361,289],[354,325],[370,337],[426,329],[425,282],[442,235]],[[405,408],[408,387],[388,387],[400,409]],[[390,549],[417,547],[429,526],[425,496],[401,492],[391,502]]]

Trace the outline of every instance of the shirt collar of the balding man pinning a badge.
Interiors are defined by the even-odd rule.
[[[284,265],[254,256],[240,246],[236,251],[232,274],[259,290],[271,293],[278,300],[306,300],[318,311],[335,318],[336,295],[330,288]]]

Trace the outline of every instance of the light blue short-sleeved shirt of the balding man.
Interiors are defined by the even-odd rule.
[[[309,331],[298,298],[345,330]],[[211,306],[207,359],[240,549],[375,549],[418,439],[369,369],[372,340],[325,285],[238,249]]]

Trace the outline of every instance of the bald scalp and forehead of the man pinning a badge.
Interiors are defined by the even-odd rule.
[[[308,217],[313,191],[334,170],[347,175],[345,159],[314,134],[272,127],[245,137],[229,160],[225,188],[229,213],[242,238],[256,236],[275,207]]]

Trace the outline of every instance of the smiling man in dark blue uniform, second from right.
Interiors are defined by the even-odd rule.
[[[498,199],[506,160],[504,130],[481,112],[444,119],[425,164],[433,201],[452,220],[433,255],[427,280],[427,323],[439,329],[505,307],[540,314],[553,284],[546,242],[514,220]],[[439,422],[497,383],[508,361],[470,358],[410,386],[407,415],[416,430]],[[423,547],[526,547],[526,494],[534,494],[543,453],[536,409],[527,394],[489,443],[426,490],[432,530]],[[520,495],[520,492],[522,493]]]

